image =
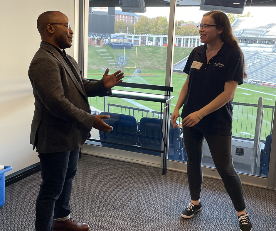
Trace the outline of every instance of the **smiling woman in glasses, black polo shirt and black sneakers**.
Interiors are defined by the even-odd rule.
[[[193,217],[201,210],[202,149],[204,138],[238,214],[241,231],[252,225],[245,212],[242,185],[232,162],[232,101],[238,84],[247,77],[243,52],[235,39],[225,13],[203,15],[199,28],[201,42],[191,52],[184,72],[188,74],[176,103],[171,123],[177,127],[183,106],[183,139],[187,153],[187,176],[191,203],[181,216]]]

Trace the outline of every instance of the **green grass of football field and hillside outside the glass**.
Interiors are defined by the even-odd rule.
[[[88,46],[88,78],[90,79],[101,79],[108,63],[105,59],[100,57],[96,52],[94,47]],[[98,47],[96,47],[98,48]],[[109,54],[116,59],[116,53],[120,52],[124,54],[123,49],[112,49],[109,46],[104,47]],[[166,72],[166,47],[149,47],[149,46],[139,46],[137,47],[139,51],[137,52],[137,65],[139,69],[142,70],[141,74],[150,74],[151,76],[141,76],[139,74],[133,74],[136,69],[129,69],[129,74],[125,74],[123,79],[124,82],[131,83],[141,83],[141,84],[153,84],[153,85],[164,85],[165,83],[165,72]],[[118,51],[119,50],[119,51]],[[174,63],[179,62],[183,58],[187,57],[192,48],[176,48],[174,49]],[[129,54],[128,66],[135,66],[135,54],[136,48],[131,50],[126,50]],[[134,59],[134,62],[133,62]],[[117,68],[118,69],[118,68]],[[113,73],[117,70],[116,68],[110,68],[110,72]],[[127,69],[122,69],[124,73],[127,73]],[[174,110],[174,106],[177,102],[179,92],[186,80],[187,75],[181,73],[174,73],[172,78],[172,86],[174,91],[172,95],[174,98],[171,100],[171,112]],[[162,92],[156,92],[152,90],[145,89],[134,89],[134,88],[123,88],[115,87],[114,89],[126,90],[126,91],[139,91],[147,93],[157,93],[162,94]],[[276,89],[256,86],[253,84],[242,84],[238,86],[234,98],[234,102],[239,103],[251,103],[258,104],[259,97],[264,98],[264,105],[275,106],[275,96]],[[148,101],[137,101],[137,100],[126,100],[122,98],[107,97],[107,103],[148,109],[150,111],[160,111],[160,103],[148,102]],[[103,111],[103,100],[99,97],[94,97],[90,99],[90,105]],[[118,112],[121,113],[120,108],[117,108]],[[114,108],[114,112],[117,112]],[[113,110],[113,109],[112,109]],[[127,111],[128,112],[128,111]],[[124,110],[122,111],[124,113]],[[257,108],[248,106],[234,106],[233,112],[233,136],[254,138],[255,133],[255,123],[256,123],[256,113]],[[144,114],[145,116],[145,114]],[[152,116],[149,113],[149,116]],[[142,114],[137,117],[139,121],[142,118]],[[271,129],[271,118],[272,109],[264,108],[264,120],[262,125],[262,136],[261,139],[265,140],[265,137],[270,134]]]

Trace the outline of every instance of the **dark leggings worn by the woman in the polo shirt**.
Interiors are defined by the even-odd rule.
[[[198,130],[183,127],[184,146],[187,153],[187,176],[191,199],[199,200],[202,175],[203,143],[206,139],[214,164],[220,174],[235,210],[245,209],[240,177],[232,162],[232,136],[202,134]]]

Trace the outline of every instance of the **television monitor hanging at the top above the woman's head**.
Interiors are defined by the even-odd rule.
[[[246,0],[201,0],[200,10],[219,10],[225,13],[242,14]]]

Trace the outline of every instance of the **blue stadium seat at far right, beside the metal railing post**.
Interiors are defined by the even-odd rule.
[[[260,155],[260,176],[264,174],[268,177],[268,167],[270,159],[272,134],[268,135],[265,139],[265,148],[261,150]]]

